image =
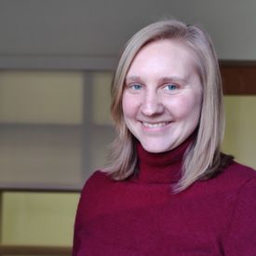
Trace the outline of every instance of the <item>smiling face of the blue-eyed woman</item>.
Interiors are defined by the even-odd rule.
[[[202,86],[193,52],[170,39],[142,47],[132,61],[122,99],[129,131],[152,153],[179,146],[195,130]]]

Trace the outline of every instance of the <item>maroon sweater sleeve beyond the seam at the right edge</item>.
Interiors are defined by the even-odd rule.
[[[223,251],[226,256],[256,255],[256,178],[238,192]]]

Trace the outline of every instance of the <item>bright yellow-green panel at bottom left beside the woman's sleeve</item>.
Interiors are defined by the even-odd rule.
[[[71,246],[78,194],[5,193],[2,243]]]

